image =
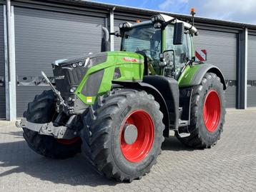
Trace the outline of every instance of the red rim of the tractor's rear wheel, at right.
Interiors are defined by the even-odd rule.
[[[209,91],[205,97],[204,121],[208,131],[216,130],[220,121],[220,96],[217,91]]]

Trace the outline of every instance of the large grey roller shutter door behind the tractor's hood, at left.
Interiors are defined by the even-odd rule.
[[[49,89],[31,86],[40,71],[53,76],[51,63],[67,56],[99,52],[105,18],[14,7],[17,116],[36,94]],[[21,86],[30,84],[30,86]]]

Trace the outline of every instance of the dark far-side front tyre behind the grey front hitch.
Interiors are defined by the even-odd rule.
[[[49,123],[54,117],[54,93],[44,91],[35,96],[34,101],[28,104],[24,117],[31,123]],[[53,136],[39,135],[35,131],[23,128],[23,136],[29,147],[36,153],[49,158],[69,158],[81,152],[80,138],[72,140],[56,139]]]

